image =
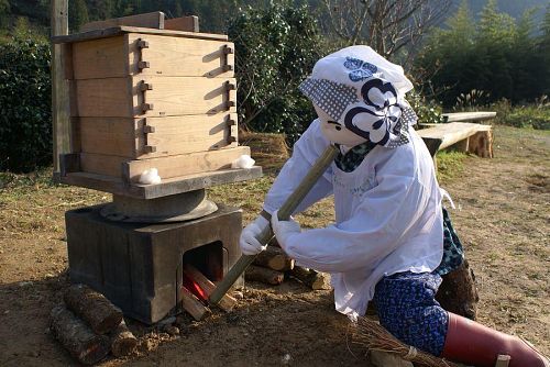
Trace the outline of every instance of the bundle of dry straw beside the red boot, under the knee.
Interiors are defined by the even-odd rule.
[[[425,367],[457,367],[455,364],[424,353],[406,345],[389,334],[377,322],[367,318],[359,318],[356,327],[353,327],[353,344],[365,346],[367,351],[380,351],[397,354],[415,366]]]

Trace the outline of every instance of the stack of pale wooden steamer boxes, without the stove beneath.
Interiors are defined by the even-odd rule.
[[[116,26],[55,41],[65,46],[73,126],[62,181],[113,191],[98,182],[135,186],[150,168],[180,180],[250,154],[238,146],[226,35]]]

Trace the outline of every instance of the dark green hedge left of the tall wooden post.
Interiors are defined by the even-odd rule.
[[[50,43],[30,33],[0,46],[0,169],[52,163]]]

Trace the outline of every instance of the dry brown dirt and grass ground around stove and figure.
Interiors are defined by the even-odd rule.
[[[465,157],[442,186],[458,207],[455,229],[475,271],[479,321],[521,335],[550,354],[550,134],[497,126],[495,158]],[[211,190],[211,198],[258,212],[273,176]],[[0,187],[0,366],[67,366],[48,332],[51,309],[68,285],[64,212],[109,200],[92,190],[12,177]],[[229,192],[231,194],[229,194]],[[330,201],[300,215],[305,226],[332,220]],[[290,280],[249,283],[239,307],[204,322],[178,319],[180,335],[131,322],[139,353],[103,366],[367,366],[330,292]]]

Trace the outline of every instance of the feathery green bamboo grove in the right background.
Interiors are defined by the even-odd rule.
[[[447,108],[462,94],[473,97],[473,91],[482,103],[539,97],[548,90],[544,75],[550,63],[542,57],[543,36],[539,42],[534,36],[532,15],[534,10],[528,10],[516,23],[490,0],[475,23],[463,1],[448,29],[437,30],[417,59],[417,74],[425,73],[422,90],[432,87]]]

